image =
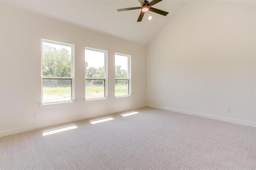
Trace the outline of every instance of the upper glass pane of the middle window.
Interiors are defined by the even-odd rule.
[[[105,53],[85,50],[85,77],[105,78]]]

